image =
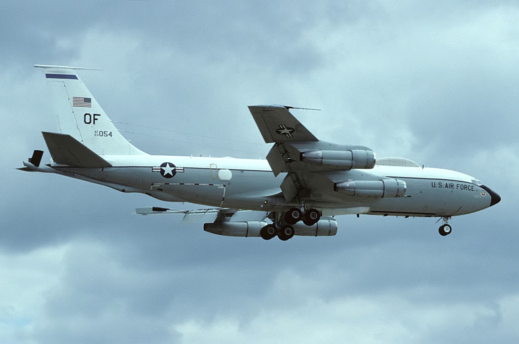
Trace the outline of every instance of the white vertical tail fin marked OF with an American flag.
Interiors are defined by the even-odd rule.
[[[39,65],[51,89],[62,134],[82,143],[95,155],[142,155],[126,140],[76,74],[74,67]],[[45,137],[45,134],[44,134]],[[45,137],[47,144],[49,141]],[[49,147],[50,150],[50,147]]]

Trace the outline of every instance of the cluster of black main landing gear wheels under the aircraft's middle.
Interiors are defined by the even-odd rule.
[[[283,221],[281,221],[281,217]],[[282,213],[275,213],[274,223],[267,224],[267,226],[263,227],[260,230],[260,235],[265,240],[270,240],[276,235],[280,240],[289,240],[295,234],[294,227],[292,227],[294,224],[302,220],[306,226],[313,226],[320,219],[321,213],[317,209],[308,209],[303,214],[303,211],[298,208],[291,208],[286,211],[284,215],[282,215]]]

